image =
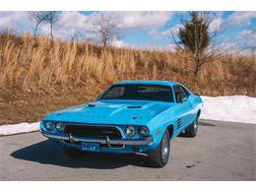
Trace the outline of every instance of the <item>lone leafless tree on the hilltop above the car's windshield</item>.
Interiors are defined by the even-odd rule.
[[[109,14],[101,13],[96,23],[96,34],[99,35],[103,46],[107,46],[112,40],[120,37],[117,21]]]

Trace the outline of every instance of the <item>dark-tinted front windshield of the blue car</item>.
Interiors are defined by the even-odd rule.
[[[173,102],[171,89],[159,85],[114,85],[99,99],[136,99]]]

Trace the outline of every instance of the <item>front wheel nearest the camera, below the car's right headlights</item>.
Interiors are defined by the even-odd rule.
[[[161,138],[159,147],[149,153],[150,164],[152,166],[162,167],[167,163],[170,151],[169,137],[169,131],[166,129]]]

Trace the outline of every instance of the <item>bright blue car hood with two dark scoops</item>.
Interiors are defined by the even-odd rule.
[[[47,115],[44,120],[144,125],[151,118],[174,105],[171,102],[142,100],[98,100]]]

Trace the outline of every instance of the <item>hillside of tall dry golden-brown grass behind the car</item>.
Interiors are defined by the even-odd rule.
[[[191,61],[177,52],[52,43],[46,37],[2,32],[0,124],[38,120],[123,80],[173,80],[200,95],[256,96],[255,55],[226,55],[207,63],[197,81],[192,70]]]

